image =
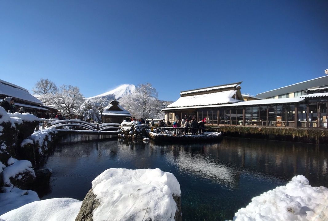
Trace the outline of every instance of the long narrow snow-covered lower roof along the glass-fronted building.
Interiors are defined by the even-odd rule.
[[[202,106],[184,106],[184,107],[172,107],[164,108],[165,110],[175,110],[175,109],[190,109],[190,108],[210,108],[210,107],[227,107],[227,106],[248,106],[248,105],[265,105],[265,104],[278,104],[278,103],[298,103],[304,101],[304,98],[280,98],[280,99],[264,99],[264,100],[254,100],[254,101],[240,101],[230,104],[218,104],[218,105],[202,105]]]

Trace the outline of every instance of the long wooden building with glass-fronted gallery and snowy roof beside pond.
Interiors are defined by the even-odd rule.
[[[297,98],[243,101],[237,84],[183,91],[162,109],[165,119],[191,115],[215,125],[327,128],[328,87],[305,90]]]

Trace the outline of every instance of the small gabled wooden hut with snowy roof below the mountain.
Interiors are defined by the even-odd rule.
[[[103,123],[122,123],[123,120],[129,117],[131,117],[129,111],[119,105],[116,100],[111,101],[109,105],[104,108],[104,112],[102,113]]]

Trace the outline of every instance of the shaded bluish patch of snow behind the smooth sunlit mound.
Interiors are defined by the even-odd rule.
[[[6,188],[8,192],[0,193],[0,215],[17,209],[25,204],[40,200],[38,194],[31,190],[21,190],[17,187]],[[0,216],[8,221],[9,219]]]

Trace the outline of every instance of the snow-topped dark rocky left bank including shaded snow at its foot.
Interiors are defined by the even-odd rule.
[[[41,119],[0,108],[0,207],[3,212],[39,200],[38,190],[49,185],[51,169],[39,169],[54,147],[57,131],[34,129]],[[20,198],[17,198],[20,197]],[[15,203],[16,202],[16,203]]]

